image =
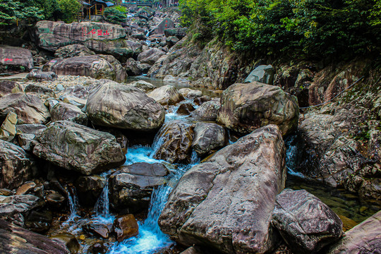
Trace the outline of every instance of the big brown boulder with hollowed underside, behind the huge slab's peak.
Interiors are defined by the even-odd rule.
[[[296,97],[282,88],[258,82],[236,83],[224,90],[217,121],[238,133],[250,133],[272,123],[287,135],[296,131],[298,116]]]

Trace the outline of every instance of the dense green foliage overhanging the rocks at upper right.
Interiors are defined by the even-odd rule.
[[[317,59],[381,51],[381,0],[180,0],[180,8],[183,25],[209,28],[237,51]]]

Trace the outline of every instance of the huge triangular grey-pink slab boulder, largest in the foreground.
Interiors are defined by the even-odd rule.
[[[271,214],[286,179],[282,133],[265,126],[188,170],[169,195],[160,229],[185,246],[266,253]]]

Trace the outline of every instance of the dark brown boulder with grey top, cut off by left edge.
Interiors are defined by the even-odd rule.
[[[32,161],[17,145],[0,140],[0,188],[16,188],[32,177]]]

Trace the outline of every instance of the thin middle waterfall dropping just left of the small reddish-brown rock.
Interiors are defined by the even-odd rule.
[[[101,174],[106,179],[103,190],[97,202],[95,203],[95,214],[97,219],[109,222],[114,221],[114,216],[110,214],[110,202],[109,202],[109,172]]]

